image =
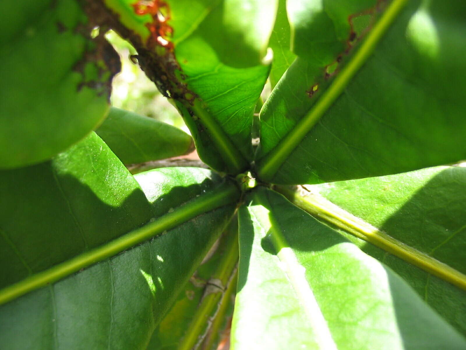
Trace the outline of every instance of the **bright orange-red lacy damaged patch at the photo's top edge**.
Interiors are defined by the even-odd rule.
[[[173,43],[167,40],[167,37],[173,33],[173,28],[168,24],[171,18],[168,4],[160,0],[138,0],[131,6],[138,15],[150,14],[152,16],[152,22],[146,24],[151,32],[147,46],[153,48],[158,45],[172,51]]]

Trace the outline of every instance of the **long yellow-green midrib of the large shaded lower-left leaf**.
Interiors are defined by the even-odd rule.
[[[61,280],[82,268],[110,258],[166,230],[183,224],[200,214],[204,214],[230,203],[236,203],[238,197],[239,190],[232,182],[223,183],[211,192],[196,197],[194,200],[185,203],[173,212],[158,217],[149,224],[145,224],[95,249],[81,253],[47,270],[35,273],[32,276],[1,289],[0,305],[35,289]]]

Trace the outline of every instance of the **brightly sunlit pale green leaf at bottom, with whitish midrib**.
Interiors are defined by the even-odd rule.
[[[390,268],[257,188],[240,208],[234,349],[463,349]]]

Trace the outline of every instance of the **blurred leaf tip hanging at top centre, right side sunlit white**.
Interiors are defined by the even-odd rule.
[[[278,0],[168,1],[173,20],[173,43],[180,46],[197,40],[215,51],[219,62],[229,67],[260,65],[274,26]],[[190,6],[190,11],[186,11]],[[216,30],[212,30],[216,28]],[[178,29],[178,30],[176,30]],[[201,52],[201,48],[196,49]],[[190,57],[195,59],[192,53]],[[202,60],[202,57],[197,60]],[[180,60],[182,62],[182,60]],[[200,67],[199,67],[200,68]]]

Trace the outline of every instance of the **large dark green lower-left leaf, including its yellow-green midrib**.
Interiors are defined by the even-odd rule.
[[[119,215],[119,220],[121,220],[117,221],[118,219],[113,218],[115,224],[125,227],[124,225],[129,226],[132,223],[132,227],[129,227],[127,231],[136,230],[113,240],[110,238],[93,250],[80,252],[74,258],[41,273],[34,273],[29,278],[0,290],[1,302],[10,300],[0,307],[0,342],[5,349],[37,349],[37,347],[45,349],[52,347],[136,349],[145,347],[158,322],[163,318],[176,295],[196,270],[220,232],[223,231],[235,210],[235,201],[238,197],[236,186],[206,169],[164,168],[141,173],[137,175],[137,180],[146,191],[146,196],[144,196],[123,164],[119,163],[116,166],[118,164],[116,156],[110,152],[103,141],[99,140],[95,134],[85,141],[66,154],[56,157],[61,160],[68,158],[70,161],[69,163],[63,162],[59,170],[70,176],[71,170],[81,169],[81,173],[75,174],[76,177],[81,176],[86,179],[86,176],[90,176],[92,178],[96,168],[92,167],[92,162],[88,162],[89,158],[99,158],[99,152],[101,152],[115,160],[116,164],[110,164],[108,168],[102,165],[99,167],[98,175],[104,174],[106,177],[94,176],[94,178],[100,177],[98,179],[100,181],[96,180],[97,185],[103,187],[100,192],[104,195],[111,195],[113,202],[108,203],[110,214],[111,210],[115,211],[114,215]],[[81,161],[79,156],[82,157]],[[56,158],[52,162],[58,162]],[[19,170],[8,172],[14,171]],[[128,179],[122,181],[118,178],[118,173],[123,173]],[[41,175],[39,173],[38,177],[41,178]],[[43,191],[52,191],[59,183],[55,182],[52,186],[45,188],[46,186],[37,182],[36,186],[39,188],[43,186]],[[92,186],[90,181],[86,184]],[[125,206],[120,204],[122,206],[120,210],[117,204],[123,201],[117,202],[115,195],[121,188],[121,196],[124,199],[123,190],[129,184],[135,188],[139,199],[132,199],[135,202],[132,205],[126,200]],[[100,195],[100,198],[95,200],[97,203],[91,201],[85,203],[87,212],[80,213],[75,210],[74,206],[75,203],[80,203],[79,200],[85,198],[82,191],[86,190],[86,187],[83,185],[81,189],[75,185],[74,191],[68,193],[65,198],[68,206],[66,203],[55,204],[58,208],[63,206],[70,208],[69,210],[75,210],[74,216],[76,221],[83,225],[83,230],[88,228],[84,226],[85,220],[93,222],[94,218],[99,215],[109,215],[108,212],[99,208],[98,201],[104,201],[106,197],[98,191],[97,185],[91,188],[94,192],[87,189],[94,196]],[[111,192],[112,189],[116,192]],[[64,242],[70,242],[71,246],[79,242],[80,236],[74,234],[73,231],[69,232],[69,227],[72,230],[74,223],[65,223],[69,227],[64,225],[64,228],[60,228],[58,223],[62,223],[63,217],[58,214],[57,210],[41,206],[40,199],[48,198],[47,195],[44,196],[39,192],[31,193],[30,197],[37,203],[35,210],[44,214],[44,226],[56,228],[57,236],[59,234],[65,237]],[[21,210],[31,210],[27,208],[28,204],[24,204],[27,203],[26,200],[15,203],[23,204],[15,206],[10,212],[21,213]],[[48,211],[54,215],[47,216]],[[125,217],[123,212],[134,216],[133,221]],[[143,218],[135,222],[138,215]],[[151,222],[138,229],[137,227],[150,216],[153,217]],[[2,218],[2,228],[4,222],[5,219]],[[21,226],[21,220],[16,223]],[[11,240],[15,238],[16,232],[11,225],[10,229]],[[106,233],[106,230],[110,231],[105,223],[102,223],[94,231],[89,230],[84,233],[89,237],[98,237],[102,234],[101,232]],[[32,233],[27,240],[37,242],[38,238],[44,241],[48,238],[48,232],[29,231]],[[125,232],[121,232],[120,229],[119,234],[122,233]],[[157,237],[150,239],[153,236]],[[54,238],[51,237],[47,243],[42,244],[48,246],[49,252],[42,252],[42,255],[39,255],[39,252],[34,252],[35,246],[32,246],[27,252],[30,255],[22,257],[23,260],[31,257],[34,262],[32,258],[36,257],[35,260],[41,261],[44,257],[52,255],[50,251],[53,252],[55,245],[59,247],[63,245],[63,243],[57,244]],[[18,242],[17,251],[25,243],[28,242]],[[138,243],[142,244],[136,245]],[[121,253],[117,254],[118,252]],[[8,256],[2,254],[2,259],[7,258]],[[96,265],[83,269],[96,262],[98,262]],[[7,272],[12,265],[9,261],[3,261],[1,266]],[[80,272],[70,275],[77,270]],[[2,276],[7,275],[5,272]],[[50,283],[58,279],[57,274],[58,278],[65,278],[54,284]],[[26,292],[31,292],[20,296],[23,294],[21,288],[27,285],[27,282],[29,282],[29,289]],[[11,301],[12,294],[17,298]]]

